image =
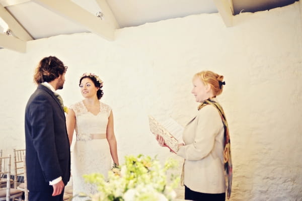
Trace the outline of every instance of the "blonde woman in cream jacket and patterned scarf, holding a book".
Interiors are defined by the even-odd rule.
[[[185,159],[182,181],[185,199],[225,200],[232,187],[232,159],[228,123],[216,96],[222,92],[223,76],[201,71],[193,76],[192,93],[199,102],[196,116],[183,132],[184,144],[177,155]],[[161,146],[163,137],[157,135]]]

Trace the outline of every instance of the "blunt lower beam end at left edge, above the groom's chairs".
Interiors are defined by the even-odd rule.
[[[26,41],[22,41],[14,36],[8,36],[4,33],[0,33],[0,47],[25,53]]]

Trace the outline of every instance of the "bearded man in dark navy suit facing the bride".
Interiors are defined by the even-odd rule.
[[[62,201],[70,177],[70,148],[57,89],[67,67],[58,58],[43,58],[34,75],[37,89],[25,110],[27,187],[30,201]]]

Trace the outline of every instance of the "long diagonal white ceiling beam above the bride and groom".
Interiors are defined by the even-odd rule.
[[[42,7],[83,26],[106,40],[114,40],[115,29],[70,0],[33,0]]]

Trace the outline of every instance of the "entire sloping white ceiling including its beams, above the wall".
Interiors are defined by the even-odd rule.
[[[111,35],[118,28],[202,13],[219,12],[228,27],[232,26],[232,16],[240,12],[263,11],[295,1],[297,0],[0,0],[0,32],[7,30],[7,23],[10,37],[14,37],[13,41],[17,43],[81,32],[94,32],[112,40]],[[102,20],[96,17],[97,12],[104,14]],[[2,19],[5,24],[1,24]],[[0,47],[6,46],[7,40],[11,40],[2,35],[5,34],[0,34]]]

